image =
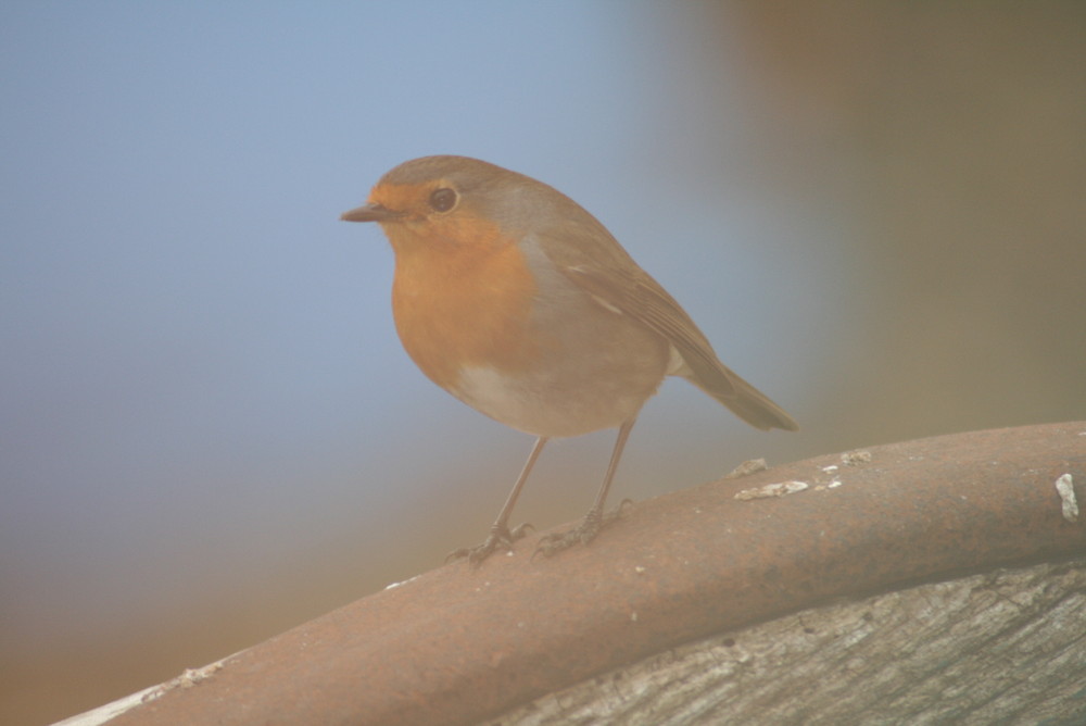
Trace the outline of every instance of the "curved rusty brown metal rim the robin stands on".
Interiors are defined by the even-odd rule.
[[[1086,551],[1086,422],[872,447],[641,502],[589,547],[463,562],[225,661],[110,724],[465,724],[821,601]],[[836,468],[831,468],[836,467]],[[782,497],[741,490],[803,481]],[[796,487],[793,487],[796,488]],[[545,534],[545,533],[541,533]]]

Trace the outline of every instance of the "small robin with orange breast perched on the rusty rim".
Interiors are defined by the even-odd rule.
[[[346,222],[381,225],[395,253],[400,340],[433,383],[536,436],[487,539],[453,552],[475,564],[512,551],[509,515],[547,440],[618,427],[595,502],[553,554],[589,542],[641,406],[680,376],[752,426],[796,422],[728,368],[679,303],[577,202],[541,182],[466,157],[405,162]]]

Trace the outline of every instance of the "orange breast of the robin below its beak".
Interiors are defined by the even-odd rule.
[[[412,360],[446,389],[465,366],[523,370],[539,341],[535,281],[517,245],[478,218],[424,225],[386,225],[396,255],[392,312]]]

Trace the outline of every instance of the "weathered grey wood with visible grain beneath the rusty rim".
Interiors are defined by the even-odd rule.
[[[1086,723],[1086,560],[807,610],[682,646],[488,722]]]

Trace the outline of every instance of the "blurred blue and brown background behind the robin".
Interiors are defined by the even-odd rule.
[[[338,221],[414,157],[581,202],[803,426],[668,383],[616,502],[1086,418],[1084,3],[8,0],[0,52],[2,723],[485,534],[531,438],[415,368]],[[579,517],[613,436],[516,520]]]

